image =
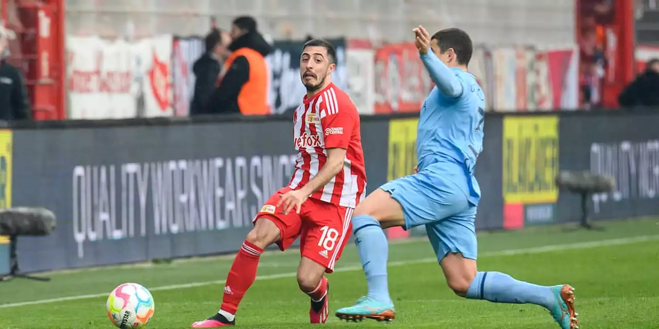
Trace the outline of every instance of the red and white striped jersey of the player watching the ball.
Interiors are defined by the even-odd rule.
[[[346,150],[343,170],[310,197],[357,207],[366,195],[366,170],[357,107],[343,90],[329,84],[303,103],[293,114],[293,143],[298,150],[289,188],[307,184],[328,159],[327,149]]]

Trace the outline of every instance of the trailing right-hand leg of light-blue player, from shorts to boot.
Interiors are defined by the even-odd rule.
[[[478,272],[475,215],[476,207],[472,207],[463,214],[426,225],[451,290],[468,299],[540,305],[550,311],[562,329],[579,328],[572,287],[538,286],[501,272]]]

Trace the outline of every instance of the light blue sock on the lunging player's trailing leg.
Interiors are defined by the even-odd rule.
[[[546,309],[553,307],[556,299],[550,287],[515,280],[501,272],[478,272],[466,297],[494,303],[531,303]]]

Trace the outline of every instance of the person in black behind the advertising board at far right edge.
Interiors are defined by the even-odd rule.
[[[659,59],[648,61],[647,68],[618,96],[621,107],[659,107]]]

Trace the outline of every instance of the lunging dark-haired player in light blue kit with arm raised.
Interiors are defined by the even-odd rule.
[[[482,89],[467,72],[473,45],[457,28],[441,30],[432,38],[422,26],[414,32],[421,60],[436,84],[418,120],[416,173],[384,184],[355,210],[353,232],[368,295],[336,315],[345,320],[395,317],[383,229],[425,225],[446,281],[457,295],[540,305],[562,329],[579,328],[571,286],[538,286],[501,272],[476,270],[474,220],[480,188],[474,167],[482,151],[485,104]]]

